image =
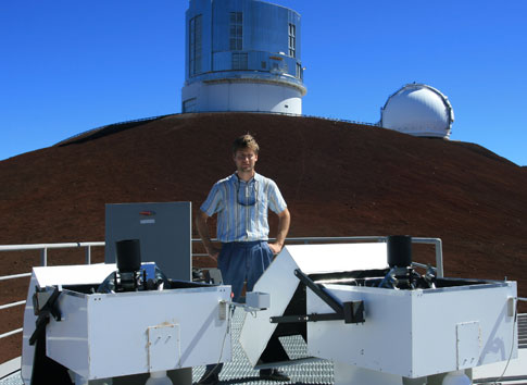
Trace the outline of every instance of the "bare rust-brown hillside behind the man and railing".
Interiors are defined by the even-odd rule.
[[[246,132],[261,146],[258,171],[288,202],[290,236],[440,237],[447,276],[506,276],[527,297],[525,167],[477,145],[311,117],[170,115],[4,160],[0,244],[103,240],[105,203],[191,201],[196,211],[234,171],[230,144]],[[414,260],[432,262],[431,248]],[[84,254],[50,251],[49,261]],[[28,272],[39,256],[1,253],[0,263],[2,275]],[[25,299],[27,280],[17,281],[0,284],[0,303]],[[21,324],[22,307],[0,313],[0,334]],[[0,340],[0,362],[20,356],[20,340]]]

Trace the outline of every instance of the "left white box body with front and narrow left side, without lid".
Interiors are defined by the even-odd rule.
[[[59,298],[64,320],[51,320],[47,328],[48,356],[89,380],[146,373],[150,367],[225,362],[231,359],[230,321],[219,319],[219,301],[229,299],[230,286],[92,295],[65,290]],[[149,330],[167,325],[178,325],[170,334],[175,339],[153,353],[174,351],[153,363]]]

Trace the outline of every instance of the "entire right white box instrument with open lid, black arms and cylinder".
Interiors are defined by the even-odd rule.
[[[246,316],[255,368],[323,358],[335,384],[469,384],[470,369],[517,357],[516,283],[413,268],[411,238],[287,246],[256,283],[271,308]],[[291,360],[280,339],[300,335]],[[286,344],[287,345],[287,344]]]

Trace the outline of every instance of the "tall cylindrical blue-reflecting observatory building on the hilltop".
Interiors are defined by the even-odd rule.
[[[258,0],[190,0],[183,112],[302,113],[300,15]]]

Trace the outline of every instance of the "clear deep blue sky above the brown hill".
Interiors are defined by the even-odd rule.
[[[308,115],[375,123],[407,83],[452,140],[527,165],[527,1],[273,1],[302,15]],[[180,112],[187,0],[0,1],[0,160]]]

